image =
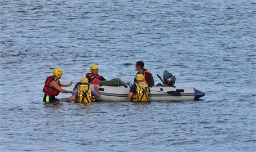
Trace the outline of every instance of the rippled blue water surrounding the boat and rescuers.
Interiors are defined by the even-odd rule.
[[[0,1],[1,151],[255,151],[255,1]],[[98,64],[132,81],[135,62],[201,101],[60,102],[55,67],[79,81]],[[72,90],[72,87],[68,87]],[[60,99],[68,94],[59,95]]]

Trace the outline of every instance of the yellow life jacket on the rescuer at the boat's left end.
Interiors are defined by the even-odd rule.
[[[80,84],[77,86],[76,101],[83,103],[90,103],[95,101],[94,95],[91,93],[91,85]]]

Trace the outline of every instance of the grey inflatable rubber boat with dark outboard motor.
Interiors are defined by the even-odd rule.
[[[157,74],[157,77],[160,76]],[[175,87],[175,76],[168,71],[164,72],[164,84],[157,84],[157,86],[149,87],[151,95],[150,101],[180,101],[180,100],[198,100],[204,96],[205,93],[196,90],[193,87]],[[122,86],[120,79],[112,81],[105,81],[99,83],[100,97],[96,98],[98,101],[126,101],[126,97],[130,91],[130,87]],[[130,84],[131,86],[131,84]]]

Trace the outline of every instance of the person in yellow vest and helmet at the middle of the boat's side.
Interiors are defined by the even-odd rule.
[[[136,74],[136,82],[130,88],[130,92],[126,98],[126,101],[133,102],[147,102],[149,101],[150,90],[148,83],[144,81],[144,76],[142,74]]]

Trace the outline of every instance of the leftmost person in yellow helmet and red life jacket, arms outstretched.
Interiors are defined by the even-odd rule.
[[[55,96],[58,96],[60,92],[73,93],[73,91],[67,91],[61,88],[71,86],[73,82],[70,82],[69,84],[60,83],[60,78],[63,73],[63,71],[60,68],[55,68],[54,71],[52,71],[52,73],[54,75],[47,77],[45,81],[45,86],[43,87],[43,92],[45,93],[45,96],[43,96],[44,102],[59,101],[58,99],[56,99]]]

